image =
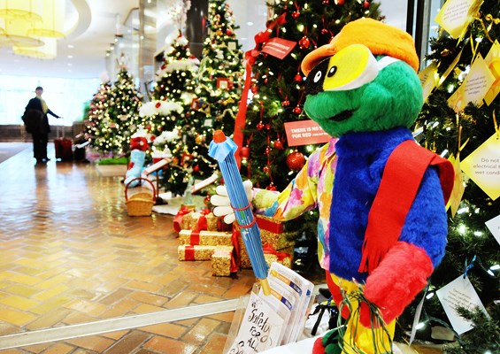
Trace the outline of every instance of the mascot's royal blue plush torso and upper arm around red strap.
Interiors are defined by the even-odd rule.
[[[358,273],[358,266],[368,212],[390,153],[401,142],[412,139],[409,129],[398,127],[342,135],[336,143],[338,162],[330,210],[331,273],[347,280],[366,280],[368,274]],[[434,266],[441,261],[446,246],[448,230],[443,204],[438,173],[430,167],[406,215],[399,241],[426,250]]]

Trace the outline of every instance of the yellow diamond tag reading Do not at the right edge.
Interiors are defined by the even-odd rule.
[[[491,199],[500,196],[500,138],[495,133],[462,161],[462,171]]]

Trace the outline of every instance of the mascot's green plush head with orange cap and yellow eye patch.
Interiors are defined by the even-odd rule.
[[[423,104],[418,68],[411,35],[352,21],[304,58],[304,110],[332,136],[411,127]]]

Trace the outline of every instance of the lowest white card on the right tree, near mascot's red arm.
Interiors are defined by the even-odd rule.
[[[458,306],[465,307],[471,311],[473,311],[474,307],[479,307],[483,312],[488,314],[476,290],[473,288],[473,284],[469,281],[469,278],[464,278],[463,275],[460,275],[456,280],[451,281],[435,293],[439,301],[441,301],[442,308],[446,312],[448,319],[450,319],[451,326],[458,335],[473,329],[472,322],[458,315],[455,310]]]

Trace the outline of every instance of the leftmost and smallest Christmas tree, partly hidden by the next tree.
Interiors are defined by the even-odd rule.
[[[112,90],[111,82],[101,84],[90,101],[88,112],[85,115],[85,137],[96,150],[104,146],[109,136],[104,131],[104,121],[109,121],[108,102]]]

